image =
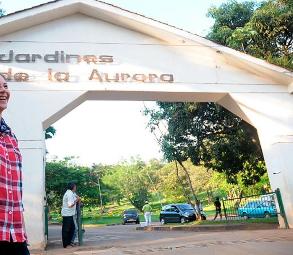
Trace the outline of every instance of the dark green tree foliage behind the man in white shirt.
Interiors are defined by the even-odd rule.
[[[73,181],[76,184],[76,194],[88,207],[95,207],[100,200],[98,183],[89,167],[76,165],[74,157],[66,157],[64,160],[46,163],[46,196],[51,208],[60,210],[62,198],[67,190],[67,183]],[[100,182],[102,197],[105,203],[109,202],[103,190],[110,189]]]

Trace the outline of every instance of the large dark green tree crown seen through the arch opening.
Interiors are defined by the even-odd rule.
[[[148,127],[156,135],[166,160],[190,159],[193,165],[223,172],[231,183],[243,173],[246,185],[265,173],[258,135],[251,125],[217,103],[157,102],[145,109]],[[160,125],[164,123],[165,132]]]

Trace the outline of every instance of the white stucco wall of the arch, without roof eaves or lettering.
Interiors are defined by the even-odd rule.
[[[24,72],[29,81],[8,81],[11,100],[3,113],[19,139],[23,155],[25,219],[31,248],[43,249],[45,189],[44,130],[85,100],[215,101],[259,132],[272,187],[281,189],[290,227],[292,215],[293,95],[272,73],[245,71],[234,58],[200,43],[175,45],[122,26],[73,14],[0,37],[0,54],[40,54],[33,62],[0,63],[0,72]],[[113,63],[47,63],[46,54],[111,55]],[[69,81],[48,80],[52,72],[69,72]],[[89,80],[97,69],[105,80]],[[251,67],[251,70],[253,68]],[[174,81],[121,81],[121,73],[172,74]],[[270,78],[268,78],[270,77]],[[89,116],[90,117],[90,116]],[[284,142],[285,141],[285,142]],[[273,175],[275,162],[280,175]]]

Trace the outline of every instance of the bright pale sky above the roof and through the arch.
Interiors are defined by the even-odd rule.
[[[6,14],[46,3],[42,0],[0,0]],[[226,0],[104,0],[109,4],[205,36],[213,24],[205,14],[209,6]],[[238,1],[241,2],[241,1]],[[154,105],[147,102],[147,106]],[[143,160],[161,158],[154,136],[145,129],[142,102],[88,101],[54,123],[57,134],[47,140],[49,159],[78,156],[78,163],[115,164],[121,158],[140,155]],[[95,115],[92,113],[95,112]],[[86,134],[86,136],[83,136]]]

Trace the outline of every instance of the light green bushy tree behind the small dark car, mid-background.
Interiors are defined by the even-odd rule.
[[[139,157],[131,157],[130,163],[122,160],[110,167],[102,180],[115,190],[116,194],[125,197],[130,203],[141,211],[144,201],[149,198],[151,185],[146,171],[145,163]]]

